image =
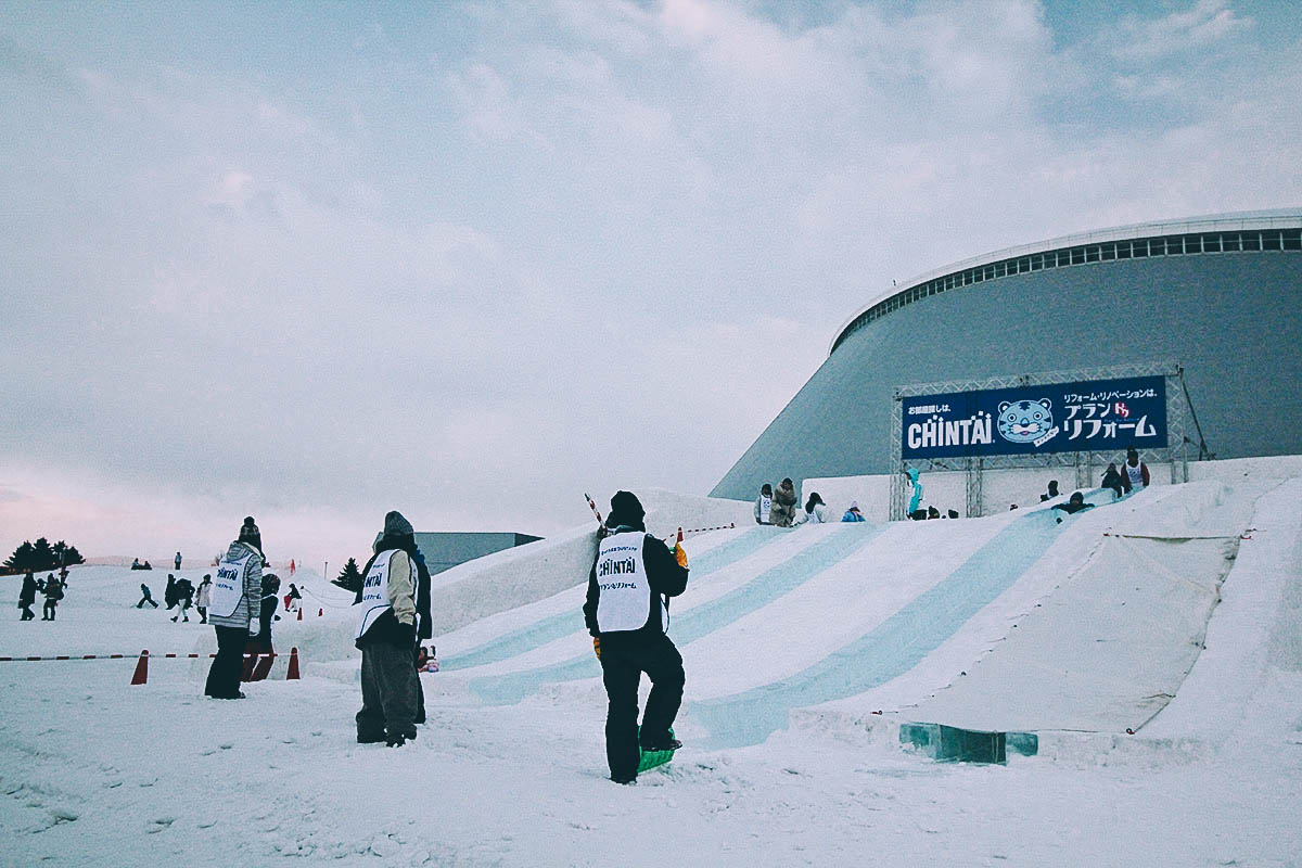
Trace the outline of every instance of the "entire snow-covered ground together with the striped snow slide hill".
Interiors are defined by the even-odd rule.
[[[684,747],[635,787],[607,780],[590,528],[435,576],[397,750],[355,740],[348,592],[299,570],[270,678],[223,703],[193,610],[78,567],[53,622],[0,621],[0,656],[73,657],[0,662],[0,861],[1297,864],[1302,479],[1087,501],[689,534]],[[997,761],[937,761],[974,734]]]

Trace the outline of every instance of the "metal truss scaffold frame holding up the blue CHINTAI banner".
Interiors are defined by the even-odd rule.
[[[1189,481],[1189,440],[1190,414],[1187,392],[1184,385],[1184,367],[1178,362],[1142,362],[1134,364],[1113,364],[1101,368],[1073,368],[1069,371],[1044,371],[1038,373],[1016,373],[990,377],[986,380],[948,380],[943,383],[913,383],[897,387],[891,402],[891,475],[900,480],[905,463],[904,444],[904,398],[926,394],[945,394],[950,392],[976,392],[987,389],[1010,389],[1017,387],[1053,385],[1059,383],[1079,383],[1085,380],[1115,380],[1137,376],[1160,376],[1167,380],[1167,445],[1159,449],[1141,449],[1139,458],[1147,463],[1169,463],[1170,481]],[[1199,444],[1202,442],[1199,435]],[[1027,470],[1039,467],[1070,467],[1075,472],[1075,487],[1090,488],[1095,479],[1096,455],[1124,450],[1056,452],[1043,455],[987,455],[960,458],[918,458],[909,466],[921,472],[962,471],[967,475],[967,515],[983,515],[982,478],[987,470]],[[1103,463],[1112,458],[1099,459]],[[1101,465],[1100,465],[1101,466]],[[898,481],[891,484],[891,521],[907,518],[905,514],[909,493]]]

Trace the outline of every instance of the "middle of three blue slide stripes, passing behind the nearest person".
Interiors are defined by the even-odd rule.
[[[848,523],[717,600],[703,603],[681,616],[672,616],[671,610],[669,638],[686,644],[713,630],[727,627],[835,566],[867,545],[883,530],[881,524]],[[600,674],[602,665],[596,657],[585,653],[551,666],[475,678],[470,682],[470,690],[488,704],[509,705],[525,699],[543,685],[596,678]]]

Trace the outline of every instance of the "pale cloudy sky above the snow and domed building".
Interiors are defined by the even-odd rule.
[[[893,278],[1302,203],[1286,0],[0,8],[4,553],[706,493]]]

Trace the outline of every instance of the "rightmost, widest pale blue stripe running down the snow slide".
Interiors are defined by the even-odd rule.
[[[759,744],[785,729],[793,708],[845,699],[901,675],[954,635],[1048,550],[1060,528],[1043,511],[1017,519],[958,569],[868,634],[803,671],[741,694],[691,703],[707,747]]]

